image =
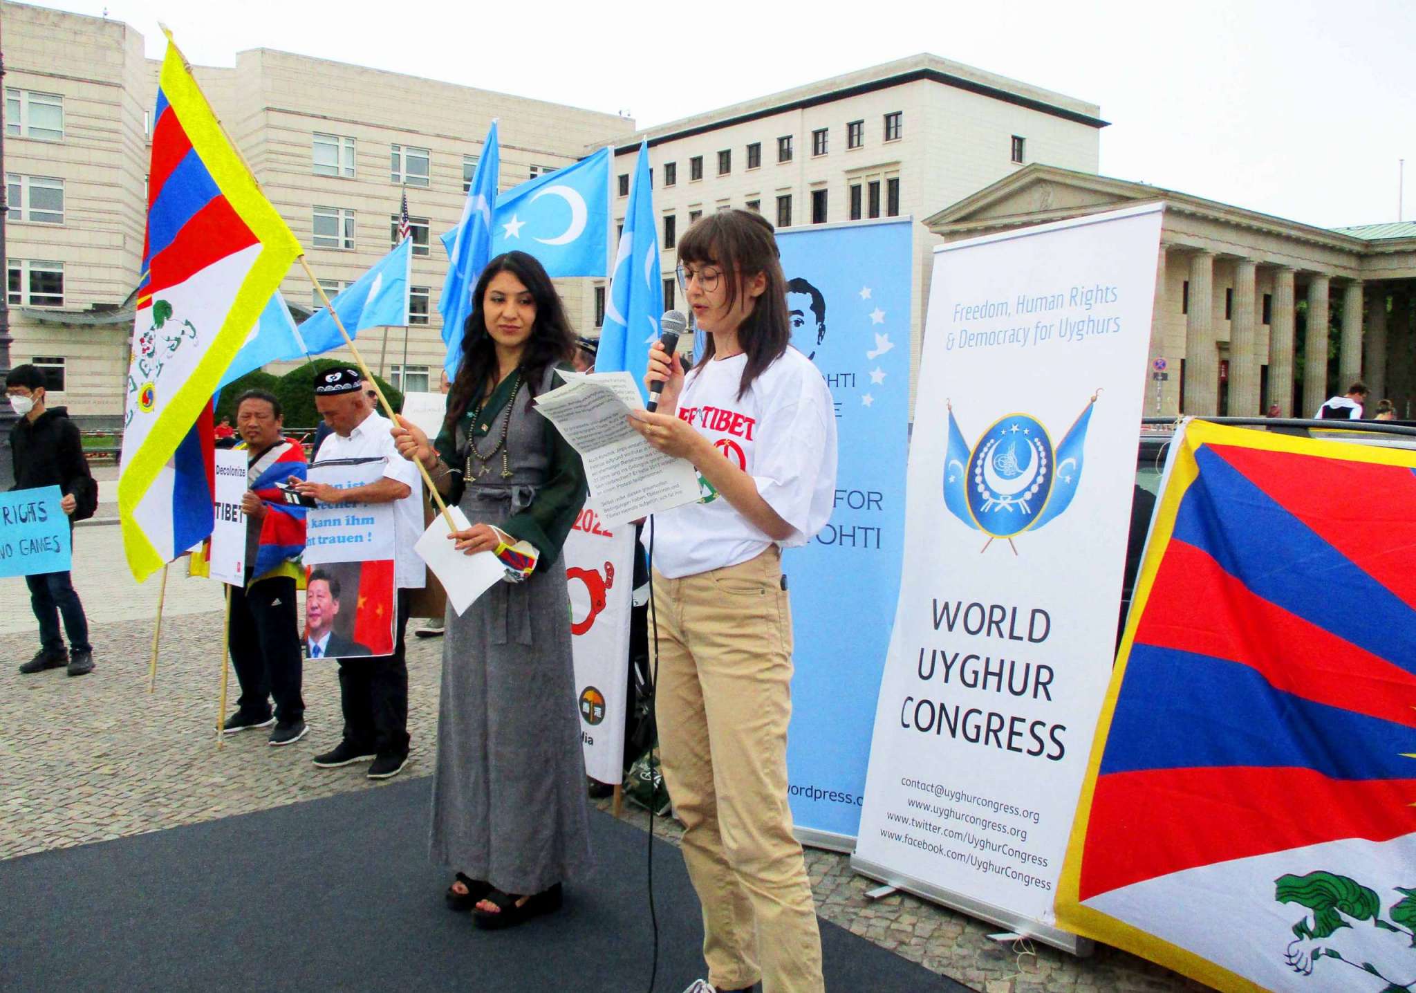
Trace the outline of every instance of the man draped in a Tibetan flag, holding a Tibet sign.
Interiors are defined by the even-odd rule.
[[[241,697],[225,734],[268,728],[273,747],[304,737],[303,663],[296,612],[300,552],[304,551],[304,507],[285,501],[279,483],[304,479],[304,448],[280,433],[280,401],[265,390],[236,399],[236,425],[246,450],[245,586],[231,588],[231,666]],[[270,697],[275,697],[275,714]]]

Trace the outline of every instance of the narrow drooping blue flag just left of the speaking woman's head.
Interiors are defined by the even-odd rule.
[[[634,186],[629,194],[624,231],[605,305],[605,326],[595,368],[600,373],[627,370],[644,392],[649,347],[658,340],[658,319],[664,313],[664,283],[658,275],[658,227],[649,164],[649,143],[639,146]],[[647,398],[647,394],[646,394]]]

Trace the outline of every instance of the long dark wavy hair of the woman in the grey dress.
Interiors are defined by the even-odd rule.
[[[565,306],[555,292],[551,278],[541,263],[525,252],[506,252],[487,263],[481,271],[476,289],[472,292],[472,313],[462,327],[462,365],[447,391],[447,419],[445,425],[456,432],[457,421],[477,399],[496,387],[497,348],[487,334],[487,313],[484,300],[487,286],[498,272],[510,272],[531,292],[535,300],[535,323],[525,351],[521,353],[521,380],[527,385],[527,405],[545,371],[559,363],[569,361],[575,354],[575,333],[566,320]]]

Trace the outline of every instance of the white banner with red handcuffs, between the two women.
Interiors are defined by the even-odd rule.
[[[624,778],[634,526],[606,527],[586,504],[565,540],[565,582],[585,772],[617,783]]]

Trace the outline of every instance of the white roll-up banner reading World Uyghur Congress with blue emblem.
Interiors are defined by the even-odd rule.
[[[1066,951],[1116,654],[1160,205],[935,249],[852,867]]]

